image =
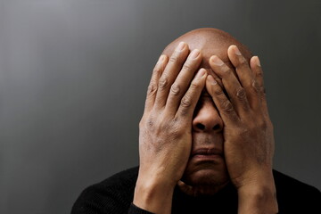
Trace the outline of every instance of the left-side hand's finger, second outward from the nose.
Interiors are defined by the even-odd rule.
[[[193,50],[179,72],[175,82],[170,87],[169,97],[166,103],[166,111],[169,114],[175,115],[180,104],[180,101],[185,95],[188,86],[190,85],[195,71],[199,68],[202,62],[202,53],[198,49]]]

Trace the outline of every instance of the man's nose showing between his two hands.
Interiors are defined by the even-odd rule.
[[[193,131],[219,132],[223,128],[223,120],[212,102],[200,103],[194,112]]]

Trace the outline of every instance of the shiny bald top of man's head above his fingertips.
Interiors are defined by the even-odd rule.
[[[228,66],[232,68],[231,62],[227,57],[227,48],[230,45],[237,45],[240,51],[243,53],[243,56],[250,61],[251,52],[250,50],[237,41],[235,37],[232,37],[228,33],[220,30],[220,29],[194,29],[178,37],[173,42],[171,42],[163,51],[163,54],[170,56],[176,46],[180,42],[185,42],[189,49],[192,51],[193,49],[199,49],[202,51],[202,63],[201,67],[205,69],[210,68],[209,60],[210,56],[217,55],[221,60],[226,62]]]

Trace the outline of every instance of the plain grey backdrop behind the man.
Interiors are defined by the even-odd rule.
[[[0,213],[69,213],[135,166],[152,67],[202,27],[259,55],[275,168],[321,189],[320,18],[319,0],[0,0]]]

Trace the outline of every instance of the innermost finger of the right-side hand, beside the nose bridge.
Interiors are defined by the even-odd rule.
[[[227,99],[221,86],[218,85],[218,82],[211,75],[208,75],[206,78],[206,89],[217,106],[223,121],[226,124],[235,124],[235,122],[238,122],[239,117],[232,103]]]

